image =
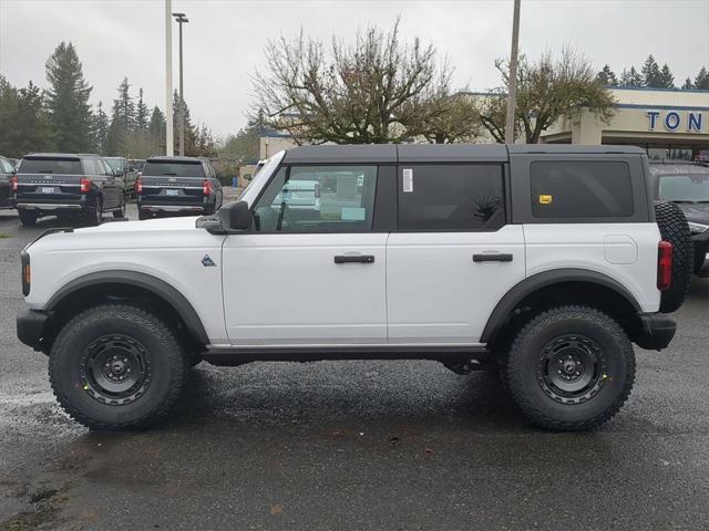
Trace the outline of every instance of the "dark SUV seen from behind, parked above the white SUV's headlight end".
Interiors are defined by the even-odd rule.
[[[22,225],[59,216],[99,225],[125,216],[123,179],[97,155],[32,153],[20,162],[14,202]]]

